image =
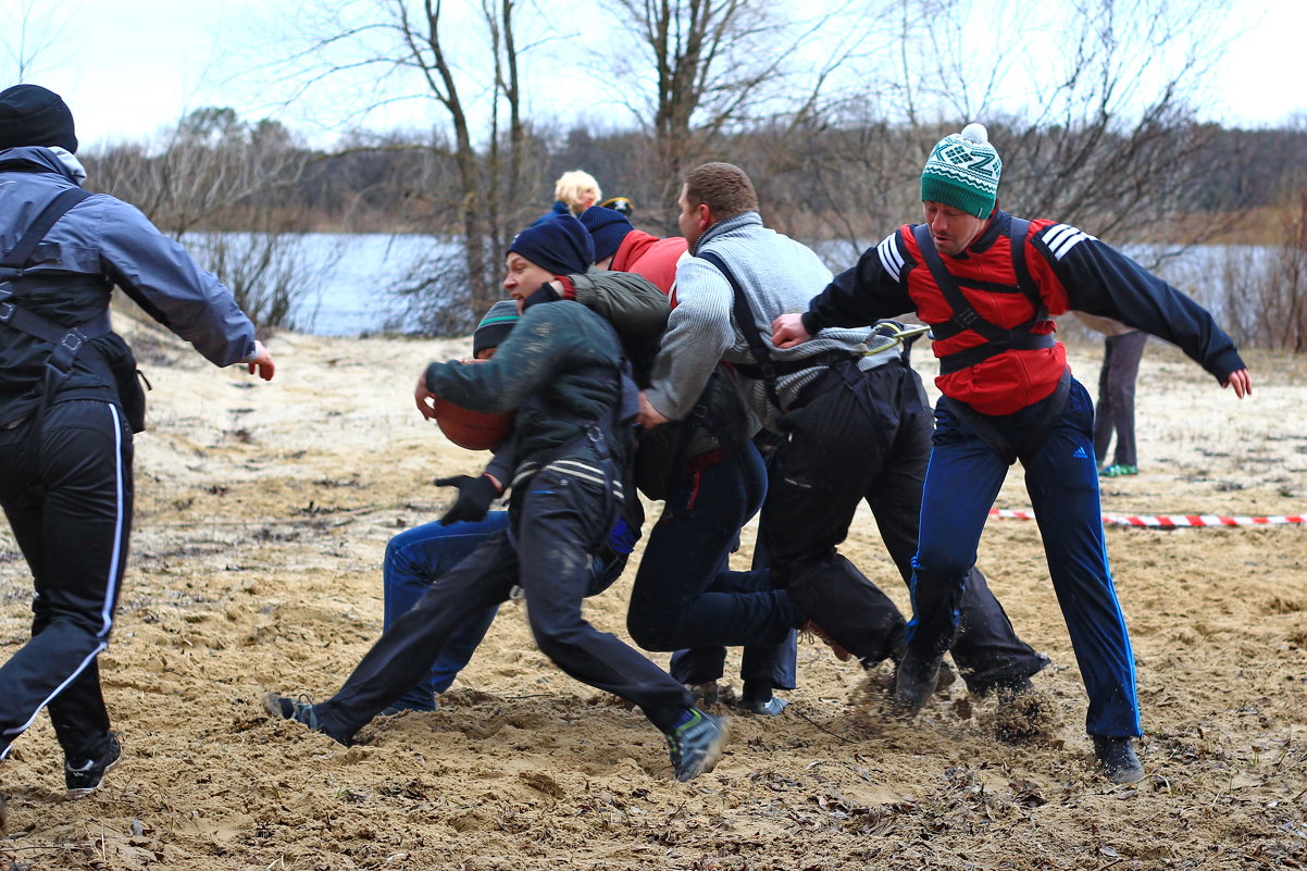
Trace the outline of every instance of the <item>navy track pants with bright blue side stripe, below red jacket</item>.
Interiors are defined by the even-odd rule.
[[[1019,445],[1047,401],[991,417],[991,422]],[[944,651],[953,638],[980,532],[1008,473],[1008,464],[942,401],[935,413],[908,624],[908,646],[921,657]],[[1086,731],[1138,736],[1134,655],[1107,561],[1093,426],[1089,394],[1073,379],[1067,405],[1043,445],[1022,460],[1026,492],[1089,693]]]

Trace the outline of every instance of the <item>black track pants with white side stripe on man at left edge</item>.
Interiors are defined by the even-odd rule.
[[[111,403],[50,408],[0,430],[0,505],[31,569],[31,638],[0,667],[0,757],[42,708],[64,753],[108,732],[95,657],[108,643],[132,524],[132,433]]]

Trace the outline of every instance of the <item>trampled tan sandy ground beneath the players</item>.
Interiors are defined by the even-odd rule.
[[[789,709],[723,706],[728,752],[677,783],[643,717],[549,664],[506,606],[440,710],[378,719],[346,748],[269,721],[259,694],[333,692],[380,630],[387,539],[439,517],[448,492],[433,477],[482,462],[412,404],[421,366],[467,343],[281,335],[269,343],[276,381],[255,384],[154,330],[128,332],[154,391],[137,438],[131,568],[101,658],[125,756],[98,794],[65,800],[38,718],[0,766],[5,870],[1307,864],[1302,526],[1108,528],[1146,731],[1149,776],[1134,786],[1090,765],[1039,534],[1012,519],[989,522],[980,565],[1052,659],[1035,683],[1056,722],[1026,743],[999,740],[993,704],[961,684],[911,726],[887,719],[884,672],[802,643]],[[1091,387],[1098,353],[1072,349]],[[1144,473],[1104,483],[1104,511],[1307,511],[1307,361],[1249,364],[1256,392],[1240,403],[1150,343]],[[1019,471],[997,506],[1029,506]],[[869,515],[844,551],[907,607]],[[618,636],[631,574],[587,604]],[[5,530],[0,655],[22,643],[29,599]]]

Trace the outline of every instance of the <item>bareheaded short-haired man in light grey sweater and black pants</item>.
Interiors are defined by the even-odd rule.
[[[763,226],[753,183],[737,166],[691,170],[680,207],[691,256],[677,268],[678,305],[640,398],[640,420],[648,426],[686,417],[708,373],[729,362],[750,413],[786,434],[769,464],[762,507],[775,586],[864,663],[897,659],[903,616],[836,547],[865,498],[908,577],[931,432],[920,379],[898,350],[867,357],[867,331],[767,347],[761,364],[745,331],[770,335],[772,319],[804,305],[830,271],[813,251]],[[738,309],[723,267],[740,285]],[[735,315],[742,303],[752,324]],[[968,632],[954,658],[968,685],[979,693],[1029,685],[1044,660],[1012,632],[979,573],[962,608]]]

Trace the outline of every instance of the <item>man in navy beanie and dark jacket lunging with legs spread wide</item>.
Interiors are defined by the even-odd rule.
[[[567,242],[558,233],[583,242],[584,260],[592,259],[576,218],[557,221],[562,226],[532,226],[510,246],[505,286],[514,298],[554,279],[557,243]],[[546,263],[536,262],[541,259]],[[516,412],[511,449],[520,459],[510,484],[510,528],[433,585],[332,698],[308,705],[268,693],[264,708],[349,743],[427,672],[459,626],[505,602],[516,585],[546,657],[574,679],[639,706],[667,736],[677,779],[712,770],[724,726],[693,708],[689,692],[667,672],[582,616],[589,556],[608,540],[622,504],[637,498],[622,481],[634,416],[627,409],[634,398],[626,396],[634,387],[625,387],[626,381],[612,327],[572,301],[531,306],[486,362],[427,366],[414,394],[423,415],[434,416],[433,396],[472,411]]]

